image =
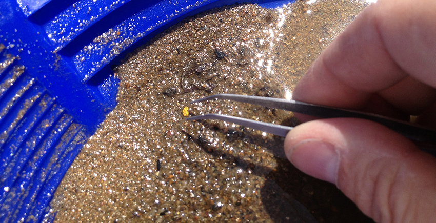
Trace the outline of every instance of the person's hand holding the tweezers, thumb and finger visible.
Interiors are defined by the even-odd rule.
[[[309,68],[293,99],[436,127],[436,1],[379,0]],[[307,121],[290,131],[295,167],[329,181],[376,222],[434,222],[436,158],[368,120]]]

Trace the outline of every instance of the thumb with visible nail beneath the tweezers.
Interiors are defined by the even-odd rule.
[[[285,153],[303,172],[329,181],[376,222],[433,222],[436,158],[368,120],[333,118],[295,127]]]

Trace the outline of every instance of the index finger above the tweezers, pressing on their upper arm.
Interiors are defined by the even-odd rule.
[[[436,87],[434,21],[432,0],[371,4],[315,60],[295,87],[293,99],[363,109],[379,94],[395,107],[401,102],[392,96],[395,91],[410,91],[410,98],[402,99],[419,95],[431,98],[419,102],[430,106]],[[395,88],[410,77],[415,84]]]

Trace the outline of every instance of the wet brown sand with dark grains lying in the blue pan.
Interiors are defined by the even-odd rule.
[[[223,113],[294,126],[290,112],[216,100],[289,98],[320,52],[366,6],[309,1],[214,9],[156,36],[115,68],[118,105],[51,202],[57,222],[371,222],[333,185],[296,170],[283,138]]]

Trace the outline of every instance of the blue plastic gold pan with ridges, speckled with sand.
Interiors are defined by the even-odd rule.
[[[184,17],[235,2],[0,1],[0,222],[39,222],[49,211],[68,167],[116,105],[113,64]]]

